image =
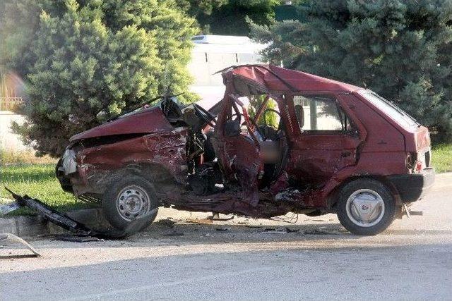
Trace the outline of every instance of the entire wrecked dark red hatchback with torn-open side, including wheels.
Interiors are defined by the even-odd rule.
[[[165,206],[334,212],[350,232],[375,235],[432,185],[429,131],[374,92],[268,65],[222,76],[225,96],[209,110],[164,98],[71,137],[62,188],[102,203],[118,229]],[[269,113],[278,125],[263,122]]]

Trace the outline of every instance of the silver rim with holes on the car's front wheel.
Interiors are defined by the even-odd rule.
[[[119,214],[126,221],[132,221],[150,210],[148,193],[137,185],[121,190],[116,203]]]

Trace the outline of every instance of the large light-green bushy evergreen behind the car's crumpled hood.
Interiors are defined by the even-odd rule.
[[[165,92],[186,92],[192,18],[164,0],[5,0],[0,63],[28,81],[26,122],[37,154]],[[185,94],[182,100],[192,99]]]

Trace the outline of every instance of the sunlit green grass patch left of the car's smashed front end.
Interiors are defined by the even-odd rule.
[[[0,195],[11,199],[4,186],[18,195],[29,195],[40,199],[58,211],[88,208],[90,205],[64,192],[55,177],[54,164],[29,164],[0,166]],[[29,209],[19,209],[12,215],[32,214]]]

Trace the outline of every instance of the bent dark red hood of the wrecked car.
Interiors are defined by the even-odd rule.
[[[162,110],[153,107],[85,130],[85,132],[73,135],[69,141],[111,135],[164,133],[171,130],[174,128],[169,124]]]

